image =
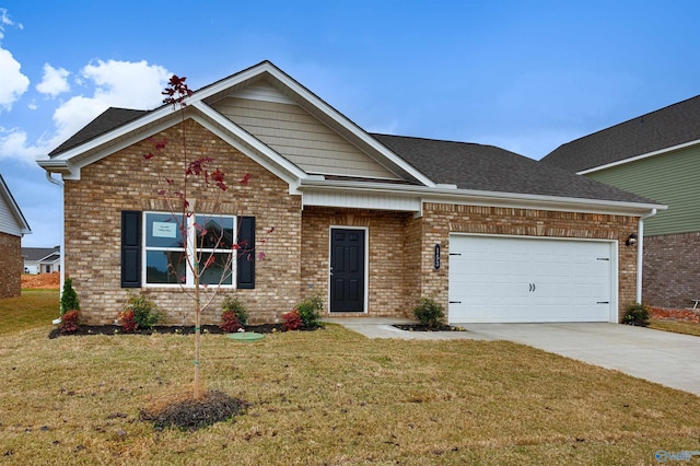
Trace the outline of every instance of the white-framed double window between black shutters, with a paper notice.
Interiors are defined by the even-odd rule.
[[[188,266],[205,268],[201,284],[232,287],[235,276],[236,218],[200,214],[185,217],[145,212],[143,221],[143,280],[145,284],[195,284]],[[189,236],[189,237],[187,237]],[[233,254],[232,254],[233,253]]]

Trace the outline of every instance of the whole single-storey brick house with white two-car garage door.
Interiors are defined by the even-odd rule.
[[[452,323],[618,322],[637,291],[626,241],[664,208],[494,147],[368,133],[264,61],[197,91],[184,123],[171,106],[110,108],[38,161],[65,184],[61,272],[85,323],[112,323],[139,291],[191,323],[167,270],[189,253],[156,194],[156,171],[183,168],[143,158],[149,138],[178,150],[184,129],[229,179],[199,211],[266,254],[234,264],[208,323],[225,295],[275,322],[312,294],[334,316],[404,316],[432,298]]]

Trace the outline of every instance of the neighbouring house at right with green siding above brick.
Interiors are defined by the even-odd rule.
[[[700,96],[559,147],[541,160],[668,206],[643,222],[643,301],[700,299]]]

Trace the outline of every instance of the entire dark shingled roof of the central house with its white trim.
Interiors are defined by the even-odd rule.
[[[307,173],[266,144],[243,126],[212,107],[217,102],[250,89],[279,92],[322,121],[351,144],[369,154],[400,179],[376,180],[362,176],[318,175]],[[264,86],[265,88],[265,86]],[[578,177],[530,159],[492,145],[438,141],[421,138],[370,135],[346,116],[279,70],[269,61],[217,81],[196,91],[188,98],[187,117],[195,119],[250,159],[290,184],[290,190],[370,189],[384,196],[396,195],[418,200],[421,196],[447,196],[450,199],[505,199],[511,202],[540,202],[542,206],[581,205],[610,209],[609,202],[623,211],[664,208],[649,199],[620,191],[591,179]],[[80,170],[139,140],[158,133],[180,121],[171,105],[153,110],[109,108],[68,141],[37,163],[48,172],[60,173],[65,179],[80,179]],[[408,193],[408,194],[407,194]],[[555,199],[557,198],[557,199]],[[576,200],[576,199],[580,199]],[[560,207],[558,207],[560,208]],[[563,208],[563,207],[561,207]]]

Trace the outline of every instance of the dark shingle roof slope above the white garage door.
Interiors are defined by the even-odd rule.
[[[372,135],[440,184],[459,189],[653,203],[493,145]]]

